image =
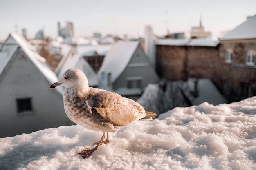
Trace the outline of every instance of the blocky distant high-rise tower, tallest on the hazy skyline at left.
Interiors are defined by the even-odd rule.
[[[74,37],[73,22],[70,22],[70,21],[58,22],[58,36],[61,36],[63,38]]]

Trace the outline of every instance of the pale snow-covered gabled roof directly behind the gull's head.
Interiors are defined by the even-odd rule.
[[[58,78],[69,68],[79,68],[85,73],[89,86],[98,86],[99,83],[96,73],[85,58],[79,53],[76,53],[75,48],[76,47],[74,47],[67,56],[64,56],[59,63],[58,71],[56,72]]]

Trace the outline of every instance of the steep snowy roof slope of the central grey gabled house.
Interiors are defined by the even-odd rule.
[[[104,57],[101,68],[97,75],[101,79],[102,73],[111,73],[111,80],[115,82],[117,77],[124,71],[133,53],[139,46],[137,41],[116,42]]]

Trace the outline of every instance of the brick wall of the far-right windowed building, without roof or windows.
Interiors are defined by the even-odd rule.
[[[233,50],[232,63],[225,63],[226,49]],[[245,64],[247,50],[256,50],[256,39],[220,41],[216,84],[231,102],[256,95],[256,66]]]

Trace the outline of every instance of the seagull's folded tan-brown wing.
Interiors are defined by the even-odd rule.
[[[114,126],[126,126],[146,116],[137,102],[110,91],[98,91],[88,99],[92,113],[99,114]]]

